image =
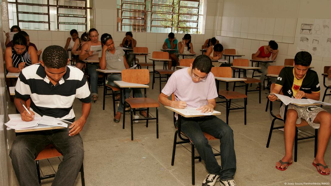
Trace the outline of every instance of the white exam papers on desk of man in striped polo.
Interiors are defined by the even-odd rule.
[[[67,123],[50,116],[35,117],[32,121],[23,121],[21,117],[16,117],[10,119],[5,125],[15,130],[48,128],[52,126],[68,127]]]

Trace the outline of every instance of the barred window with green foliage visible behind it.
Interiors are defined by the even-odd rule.
[[[202,34],[204,6],[204,0],[117,0],[117,28]]]

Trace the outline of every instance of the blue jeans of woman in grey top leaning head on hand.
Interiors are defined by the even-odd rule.
[[[111,74],[107,77],[107,80],[108,80],[109,85],[119,88],[119,86],[117,84],[115,84],[114,81],[121,81],[122,76],[118,75],[118,74]],[[119,102],[117,112],[123,113],[124,101],[125,101],[126,98],[129,98],[131,90],[132,90],[132,88],[125,88],[124,89],[125,98],[124,98],[124,91],[122,91],[122,98],[124,98],[124,99],[122,99],[122,102]],[[143,95],[141,93],[141,90],[139,88],[133,88],[133,94],[134,94],[134,97],[136,97],[136,98],[142,98],[143,97]]]

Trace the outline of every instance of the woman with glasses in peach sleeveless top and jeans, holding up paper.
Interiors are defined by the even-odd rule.
[[[101,51],[94,51],[91,50],[91,48],[101,48],[101,41],[98,41],[99,39],[99,33],[98,30],[95,28],[91,28],[88,31],[90,41],[87,41],[83,44],[80,54],[79,54],[79,60],[99,60],[99,53]],[[95,64],[86,64],[87,66],[87,72],[90,75],[91,79],[91,96],[92,101],[98,100],[98,77],[99,72],[96,71],[96,69],[99,69],[99,65]]]

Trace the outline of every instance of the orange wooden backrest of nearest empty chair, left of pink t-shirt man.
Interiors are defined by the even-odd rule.
[[[129,83],[148,84],[149,70],[147,69],[125,69],[122,70],[122,81]]]

